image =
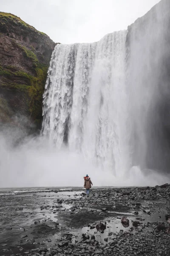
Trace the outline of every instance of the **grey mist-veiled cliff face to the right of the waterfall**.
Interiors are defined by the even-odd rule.
[[[161,0],[128,27],[126,41],[135,131],[133,165],[166,172],[170,167],[169,27],[170,1]]]

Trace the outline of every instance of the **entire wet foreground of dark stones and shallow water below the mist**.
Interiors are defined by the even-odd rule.
[[[170,255],[170,185],[0,196],[0,255]]]

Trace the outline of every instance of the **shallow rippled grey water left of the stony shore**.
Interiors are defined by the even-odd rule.
[[[56,188],[55,188],[56,189]],[[60,190],[59,188],[57,188]],[[64,189],[62,189],[64,190]],[[71,205],[57,204],[57,199],[77,198],[79,192],[62,191],[55,193],[50,188],[0,189],[0,244],[19,241],[23,228],[28,230],[34,221],[57,221],[57,209],[69,210]],[[59,208],[52,208],[58,205]],[[41,207],[46,209],[40,209]],[[10,229],[12,228],[12,229]]]

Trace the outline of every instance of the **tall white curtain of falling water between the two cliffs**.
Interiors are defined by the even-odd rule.
[[[57,45],[43,96],[42,133],[114,175],[130,167],[127,31],[92,44]],[[123,161],[122,161],[123,159]]]

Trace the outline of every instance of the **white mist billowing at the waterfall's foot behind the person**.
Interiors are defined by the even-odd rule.
[[[23,120],[23,119],[22,119]],[[85,160],[82,154],[60,150],[45,137],[28,134],[26,128],[1,128],[0,187],[79,186],[88,174],[94,186],[155,186],[169,176],[134,166],[126,173],[113,172]]]

